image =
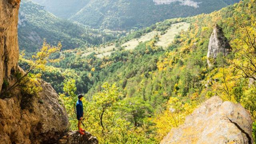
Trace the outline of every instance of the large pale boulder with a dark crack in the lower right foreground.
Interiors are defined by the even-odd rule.
[[[161,144],[252,144],[252,118],[240,104],[214,96],[184,124],[172,128]]]

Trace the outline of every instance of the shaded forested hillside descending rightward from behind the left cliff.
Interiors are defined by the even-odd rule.
[[[99,45],[115,36],[58,18],[47,12],[44,6],[22,0],[18,23],[20,50],[26,50],[26,54],[36,52],[44,38],[51,44],[62,42],[65,50]]]

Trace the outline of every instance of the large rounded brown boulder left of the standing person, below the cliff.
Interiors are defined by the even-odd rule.
[[[38,96],[17,94],[0,99],[1,144],[57,142],[68,128],[66,110],[52,86],[40,81]]]

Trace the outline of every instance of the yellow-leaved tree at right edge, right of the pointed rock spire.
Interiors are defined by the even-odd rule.
[[[235,58],[230,63],[240,76],[256,80],[256,19],[255,15],[241,19],[236,32],[238,38],[232,42]]]

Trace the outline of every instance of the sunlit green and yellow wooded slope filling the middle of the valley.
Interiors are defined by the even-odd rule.
[[[249,26],[254,26],[250,30],[254,30],[255,35],[255,4],[255,0],[244,0],[211,14],[166,20],[131,33],[135,36],[133,38],[139,38],[141,34],[153,30],[165,31],[173,22],[190,23],[190,28],[177,34],[166,50],[157,46],[159,37],[156,36],[152,40],[141,42],[132,51],[120,46],[123,44],[121,41],[129,38],[121,38],[116,41],[118,50],[102,59],[96,57],[95,53],[83,57],[78,49],[73,53],[63,52],[64,59],[41,72],[42,78],[51,82],[61,93],[64,93],[62,87],[70,83],[76,88],[74,93],[87,93],[86,128],[98,136],[102,143],[159,144],[171,128],[182,124],[186,115],[214,95],[225,101],[239,102],[250,110],[254,120],[252,128],[255,139],[256,85],[252,82],[248,86],[248,78],[236,75],[239,71],[230,63],[239,61],[236,51],[228,57],[219,55],[214,66],[207,66],[207,51],[214,24],[222,28],[232,48],[245,46],[246,44],[234,43],[234,39],[237,41],[244,38],[239,27],[241,16]],[[255,51],[252,52],[255,54]],[[252,58],[256,62],[256,56]],[[116,90],[104,90],[104,82],[115,84]],[[94,103],[95,96],[106,96],[108,91],[119,97],[118,104],[111,107],[112,115],[109,116],[112,118],[106,116],[103,120],[106,135],[102,135],[102,131],[96,129],[101,127],[99,114],[91,110],[99,110],[99,107],[90,104]],[[98,94],[99,92],[102,93]],[[95,102],[101,100],[104,101],[96,99]],[[66,106],[72,108],[71,104]],[[132,112],[135,114],[131,115]],[[112,125],[113,122],[116,125]],[[122,125],[122,122],[127,125]],[[75,128],[76,123],[72,124]]]

